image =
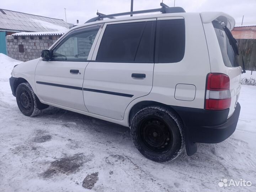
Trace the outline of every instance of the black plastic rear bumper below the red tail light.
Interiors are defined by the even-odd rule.
[[[229,109],[222,111],[193,109],[194,113],[190,111],[190,114],[177,110],[177,113],[185,124],[186,137],[191,142],[220,143],[234,133],[240,109],[240,104],[237,103],[233,115],[228,119]]]

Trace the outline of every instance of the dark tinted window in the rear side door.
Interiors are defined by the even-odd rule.
[[[153,63],[155,21],[107,25],[96,60]]]

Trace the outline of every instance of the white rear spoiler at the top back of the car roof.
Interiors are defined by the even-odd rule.
[[[235,26],[235,19],[224,12],[201,12],[200,15],[203,23],[211,23],[213,20],[224,22],[229,31]]]

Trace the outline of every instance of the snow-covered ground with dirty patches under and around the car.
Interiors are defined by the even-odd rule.
[[[256,86],[242,86],[229,139],[198,144],[193,156],[183,151],[161,164],[137,151],[127,127],[54,107],[24,116],[6,73],[0,74],[0,191],[256,191]],[[85,186],[95,183],[92,190],[82,187],[85,178]],[[252,186],[221,188],[224,178]]]

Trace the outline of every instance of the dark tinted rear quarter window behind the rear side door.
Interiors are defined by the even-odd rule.
[[[185,52],[184,19],[158,20],[155,63],[180,62]]]

